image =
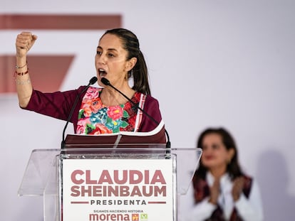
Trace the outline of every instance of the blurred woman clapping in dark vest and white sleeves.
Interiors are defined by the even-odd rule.
[[[237,146],[223,128],[202,131],[200,165],[192,179],[192,207],[182,220],[263,220],[259,186],[239,166]]]

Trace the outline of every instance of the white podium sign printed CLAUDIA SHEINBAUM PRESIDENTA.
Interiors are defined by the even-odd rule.
[[[61,158],[63,221],[173,220],[173,161]]]

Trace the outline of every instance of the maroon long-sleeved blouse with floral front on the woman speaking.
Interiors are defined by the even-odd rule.
[[[81,86],[76,90],[48,93],[33,90],[28,106],[23,109],[66,121],[76,97],[85,88],[86,86]],[[74,107],[70,119],[75,132],[81,134],[115,133],[119,130],[148,132],[157,127],[146,114],[136,109],[133,111],[130,102],[123,106],[105,107],[98,96],[100,90],[90,87],[87,95],[86,92],[82,93],[81,102]],[[143,110],[157,122],[161,122],[162,117],[157,99],[139,92],[136,92],[132,99],[135,103],[141,102]]]

